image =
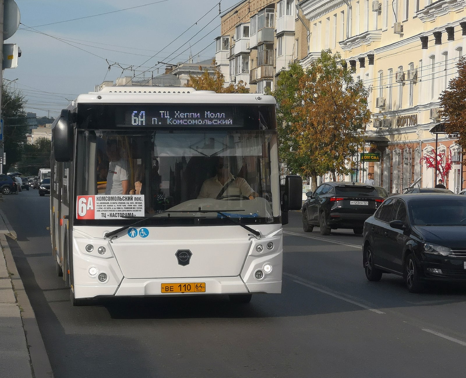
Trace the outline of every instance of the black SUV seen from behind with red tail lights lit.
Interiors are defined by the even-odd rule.
[[[373,186],[354,182],[325,182],[306,195],[302,229],[311,232],[319,226],[322,235],[329,235],[332,229],[353,229],[356,235],[362,234],[364,221],[384,201]]]

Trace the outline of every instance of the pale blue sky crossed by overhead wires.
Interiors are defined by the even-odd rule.
[[[4,43],[16,43],[22,54],[17,68],[3,70],[4,85],[25,96],[27,112],[54,118],[104,80],[163,74],[165,65],[158,61],[183,62],[190,53],[193,61],[214,57],[219,3],[223,13],[239,2],[14,1],[21,24]]]

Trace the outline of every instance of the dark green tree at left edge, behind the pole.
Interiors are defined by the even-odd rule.
[[[26,145],[28,131],[26,101],[24,95],[18,91],[10,91],[6,85],[2,86],[2,115],[3,118],[3,152],[7,155],[3,172],[19,162]]]

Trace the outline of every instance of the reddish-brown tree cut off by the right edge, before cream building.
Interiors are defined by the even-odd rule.
[[[461,57],[456,67],[458,67],[458,76],[452,78],[448,83],[448,88],[440,94],[440,106],[445,132],[458,133],[458,143],[464,150],[466,146],[466,58]],[[466,160],[463,164],[466,165]]]

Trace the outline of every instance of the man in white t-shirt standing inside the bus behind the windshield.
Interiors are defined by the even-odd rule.
[[[107,155],[110,164],[105,194],[128,194],[128,163],[120,156],[118,141],[114,139],[107,141]]]

